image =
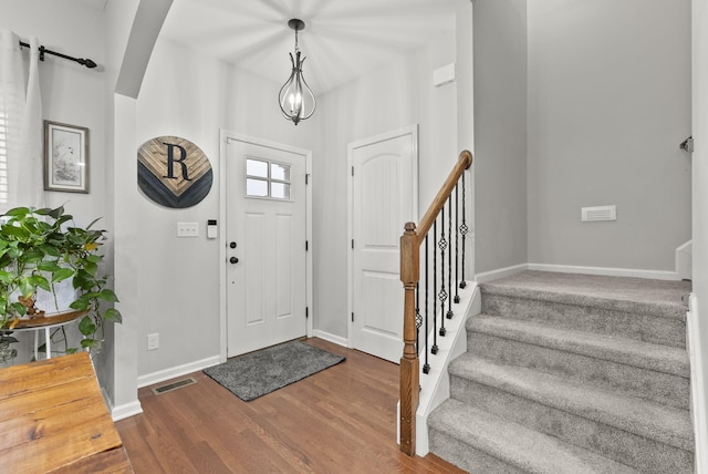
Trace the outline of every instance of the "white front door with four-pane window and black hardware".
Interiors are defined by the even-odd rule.
[[[305,336],[305,156],[228,140],[227,356]]]

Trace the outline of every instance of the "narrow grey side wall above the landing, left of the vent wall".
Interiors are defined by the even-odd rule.
[[[473,0],[475,271],[525,264],[527,0]]]

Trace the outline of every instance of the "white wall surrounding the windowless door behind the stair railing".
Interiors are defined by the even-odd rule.
[[[455,18],[450,17],[446,34],[427,48],[317,100],[313,153],[317,331],[347,337],[347,144],[419,124],[420,213],[457,159],[457,86],[433,86],[433,71],[456,60],[455,39]]]

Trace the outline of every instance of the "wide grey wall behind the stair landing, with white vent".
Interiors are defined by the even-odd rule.
[[[689,0],[528,0],[529,260],[674,270],[690,239]],[[617,205],[581,224],[581,206]]]

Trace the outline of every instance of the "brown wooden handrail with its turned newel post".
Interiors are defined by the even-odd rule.
[[[407,223],[400,236],[400,281],[404,286],[404,349],[400,358],[400,451],[416,454],[416,411],[420,385],[420,364],[416,351],[416,285],[420,278],[420,244],[433,226],[440,209],[455,190],[465,169],[472,164],[472,154],[465,150],[455,164],[420,224]]]

